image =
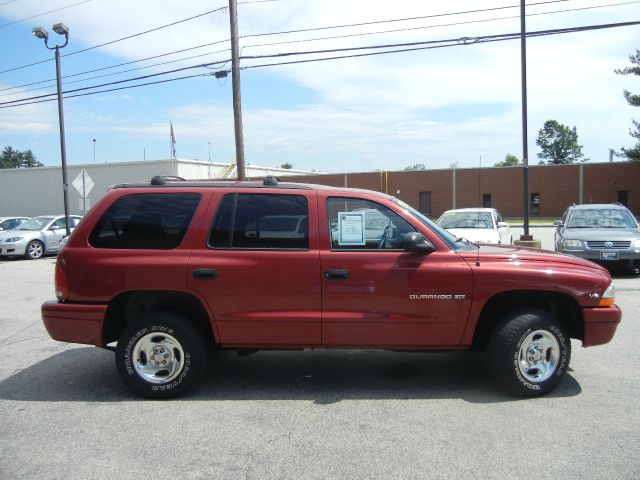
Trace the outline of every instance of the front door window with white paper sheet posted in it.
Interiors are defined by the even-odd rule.
[[[369,200],[327,200],[331,250],[401,250],[416,229],[389,208]]]

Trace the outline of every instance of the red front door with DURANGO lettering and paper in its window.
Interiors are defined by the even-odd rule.
[[[451,251],[402,250],[404,234],[417,229],[384,205],[342,197],[325,205],[323,345],[459,345],[471,306],[468,264]]]

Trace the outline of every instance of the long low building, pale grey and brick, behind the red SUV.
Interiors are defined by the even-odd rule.
[[[177,175],[187,179],[235,178],[233,167],[192,160],[72,165],[68,167],[69,213],[83,214],[81,196],[72,186],[82,169],[95,183],[87,199],[89,209],[102,198],[110,185],[149,181],[154,175]],[[491,205],[503,216],[523,216],[522,168],[518,167],[315,174],[247,165],[246,174],[248,178],[288,176],[296,182],[377,190],[397,196],[416,208],[420,205],[420,192],[430,192],[432,217],[438,217],[454,207],[482,206],[482,195],[490,194]],[[640,163],[586,163],[529,168],[529,193],[540,194],[540,212],[531,214],[532,218],[557,218],[572,203],[615,202],[618,200],[618,191],[628,192],[629,208],[636,216],[640,215]],[[0,216],[58,214],[63,210],[60,167],[0,170]]]

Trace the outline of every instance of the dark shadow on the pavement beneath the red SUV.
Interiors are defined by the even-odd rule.
[[[397,353],[381,350],[261,351],[247,357],[213,352],[204,375],[178,401],[461,399],[512,402],[493,384],[480,352]],[[579,395],[567,375],[543,398]],[[114,354],[74,348],[0,382],[0,399],[40,402],[136,400],[120,381]]]

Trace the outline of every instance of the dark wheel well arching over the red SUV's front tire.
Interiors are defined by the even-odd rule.
[[[572,297],[557,292],[512,291],[499,293],[484,305],[476,325],[472,347],[483,350],[493,328],[507,312],[526,308],[547,310],[562,323],[569,337],[582,339],[584,328],[580,306]]]

